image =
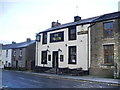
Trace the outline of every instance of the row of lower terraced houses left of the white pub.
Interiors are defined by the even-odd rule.
[[[35,40],[27,38],[25,42],[3,45],[5,67],[31,70],[35,64]]]

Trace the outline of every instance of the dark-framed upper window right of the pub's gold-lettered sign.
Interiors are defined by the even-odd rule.
[[[68,29],[68,39],[69,40],[76,40],[76,26],[69,27]]]

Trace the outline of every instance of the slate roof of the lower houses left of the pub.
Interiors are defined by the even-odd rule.
[[[35,43],[35,40],[21,42],[21,43],[6,44],[3,45],[2,49],[25,48],[33,43]]]

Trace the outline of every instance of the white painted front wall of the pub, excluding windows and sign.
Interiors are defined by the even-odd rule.
[[[87,25],[79,25],[77,26],[77,32],[79,31],[87,31],[89,24]],[[49,43],[50,41],[50,34],[55,32],[61,32],[64,31],[64,42],[55,42],[55,43]],[[41,34],[41,42],[36,43],[36,65],[37,66],[43,66],[41,64],[41,51],[49,50],[48,55],[51,55],[51,61],[47,60],[47,64],[44,65],[45,67],[52,67],[52,53],[53,51],[58,51],[60,48],[62,52],[59,52],[59,68],[65,68],[69,67],[71,69],[73,68],[83,68],[84,70],[88,70],[88,37],[87,34],[78,35],[77,34],[77,40],[68,41],[68,28],[52,31],[47,33],[47,44],[42,45],[42,34]],[[67,46],[66,46],[67,44]],[[49,46],[49,48],[47,47]],[[76,46],[77,47],[77,64],[68,64],[68,46]],[[64,55],[64,61],[60,62],[60,55]]]

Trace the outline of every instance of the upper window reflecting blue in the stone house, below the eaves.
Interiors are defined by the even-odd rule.
[[[104,23],[104,37],[111,36],[113,34],[113,22]]]

